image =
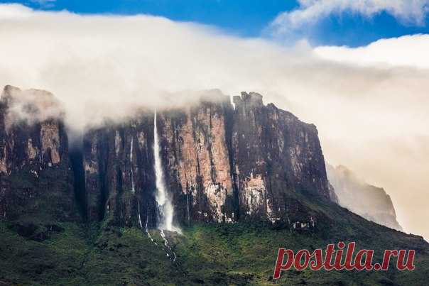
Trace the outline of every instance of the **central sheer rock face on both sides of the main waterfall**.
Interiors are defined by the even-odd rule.
[[[163,179],[175,219],[314,226],[317,218],[291,194],[335,200],[315,126],[264,106],[256,93],[243,93],[234,104],[212,94],[158,112]],[[156,225],[153,113],[87,132],[82,164],[89,219],[107,214],[118,224]]]

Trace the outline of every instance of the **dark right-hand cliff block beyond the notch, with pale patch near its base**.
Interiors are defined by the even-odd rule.
[[[232,122],[234,181],[240,217],[284,221],[296,206],[285,193],[313,192],[335,200],[327,182],[317,129],[260,94],[234,97]]]

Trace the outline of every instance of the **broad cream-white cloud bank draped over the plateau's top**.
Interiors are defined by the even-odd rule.
[[[407,38],[384,49],[408,65],[375,54],[358,65],[328,48],[282,48],[165,18],[16,5],[0,5],[0,38],[0,84],[53,92],[72,128],[119,119],[135,106],[189,104],[200,90],[264,94],[266,103],[315,123],[325,158],[385,187],[401,225],[429,238],[429,212],[416,207],[429,189],[429,69],[416,67],[413,51],[394,49]],[[429,42],[425,35],[408,38],[419,40]],[[363,57],[370,47],[349,51]]]

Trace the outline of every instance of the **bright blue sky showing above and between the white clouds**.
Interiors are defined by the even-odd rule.
[[[10,3],[11,1],[0,2]],[[26,0],[13,2],[33,9],[54,11],[66,9],[75,13],[126,15],[146,13],[165,16],[175,21],[204,23],[242,37],[268,38],[271,37],[270,23],[276,16],[300,7],[295,0]],[[330,13],[320,17],[317,23],[303,25],[293,31],[293,38],[307,38],[313,45],[355,47],[367,45],[380,38],[429,33],[429,28],[425,24],[427,18],[428,16],[425,15],[423,23],[404,23],[410,21],[401,21],[398,17],[392,16],[392,13],[383,10],[371,16],[362,15],[356,11]]]

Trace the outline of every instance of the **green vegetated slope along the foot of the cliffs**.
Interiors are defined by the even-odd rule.
[[[429,277],[429,245],[423,238],[366,221],[314,194],[295,192],[287,192],[288,207],[296,210],[291,219],[312,216],[314,228],[195,224],[185,227],[183,235],[167,233],[177,255],[173,261],[156,230],[150,231],[152,241],[141,229],[115,226],[113,218],[101,224],[78,222],[71,214],[75,207],[66,205],[72,198],[64,200],[70,194],[62,191],[69,189],[68,182],[50,183],[60,172],[65,170],[43,174],[40,197],[16,209],[16,219],[0,222],[0,285],[422,285]],[[26,184],[36,184],[31,180],[11,178],[16,197],[26,199]],[[399,272],[393,263],[387,272],[288,270],[272,280],[278,248],[313,251],[338,241],[374,249],[376,261],[384,249],[416,249],[416,270]]]

